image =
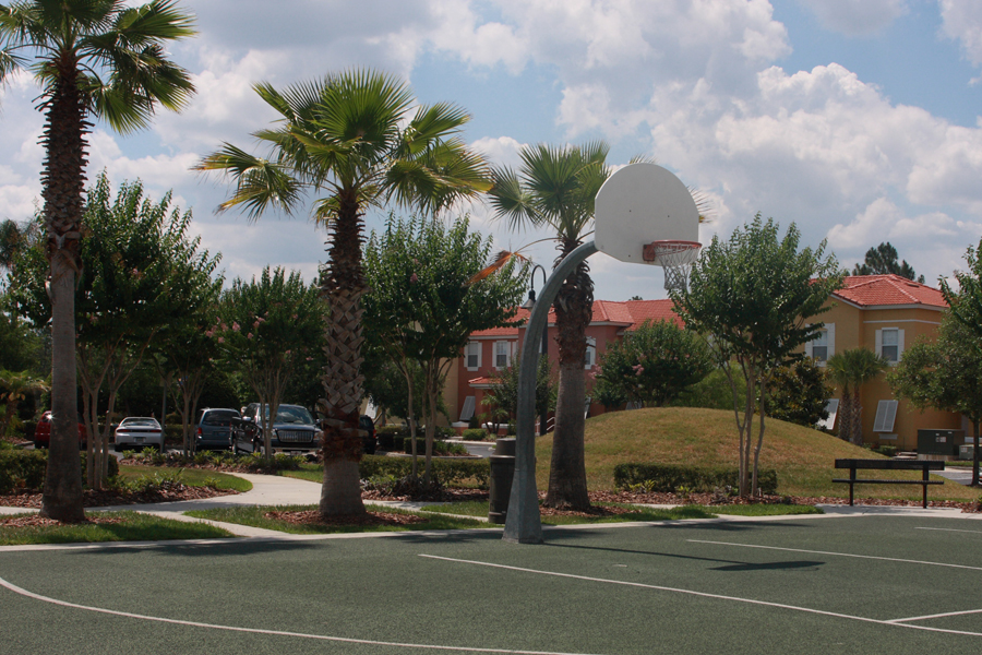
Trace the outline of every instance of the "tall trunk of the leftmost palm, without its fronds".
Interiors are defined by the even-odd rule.
[[[63,522],[85,521],[79,457],[79,405],[75,378],[75,274],[81,267],[80,225],[85,186],[85,106],[77,87],[77,61],[52,62],[55,91],[47,106],[41,139],[47,153],[41,195],[51,264],[51,442],[41,515]]]

